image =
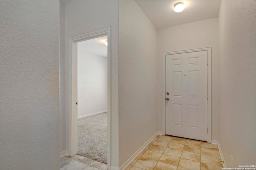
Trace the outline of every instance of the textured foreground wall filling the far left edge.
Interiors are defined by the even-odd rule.
[[[0,1],[0,169],[60,169],[59,5]]]

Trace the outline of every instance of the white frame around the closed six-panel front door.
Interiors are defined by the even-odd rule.
[[[206,51],[207,52],[207,142],[212,143],[212,47],[162,53],[162,134],[165,134],[165,59],[166,55]]]

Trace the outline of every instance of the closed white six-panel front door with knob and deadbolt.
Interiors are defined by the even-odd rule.
[[[166,135],[207,141],[207,52],[166,55]]]

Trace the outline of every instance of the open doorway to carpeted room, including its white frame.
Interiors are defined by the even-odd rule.
[[[108,43],[105,45],[105,41]],[[110,168],[110,27],[69,38],[69,155]]]

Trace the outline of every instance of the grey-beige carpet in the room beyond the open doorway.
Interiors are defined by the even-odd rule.
[[[78,154],[107,163],[107,112],[78,119]]]

